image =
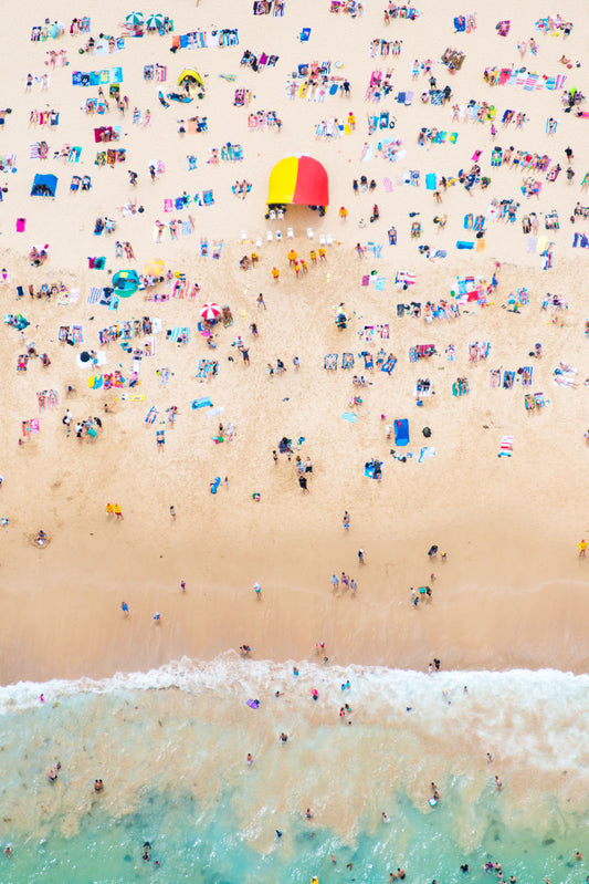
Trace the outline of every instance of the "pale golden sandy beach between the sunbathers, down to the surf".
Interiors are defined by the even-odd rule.
[[[0,298],[4,316],[20,313],[30,324],[22,335],[6,322],[0,330],[0,514],[8,520],[0,530],[0,680],[147,670],[182,656],[211,659],[244,643],[256,659],[315,658],[318,642],[325,642],[325,654],[339,665],[423,672],[437,656],[446,669],[553,667],[585,673],[589,559],[579,555],[577,544],[589,538],[583,304],[589,252],[572,243],[575,233],[589,230],[587,219],[574,215],[577,204],[589,205],[581,187],[589,160],[587,119],[565,113],[561,101],[569,89],[589,90],[583,4],[482,8],[471,33],[454,32],[454,15],[466,10],[448,0],[424,0],[419,19],[389,24],[383,23],[383,0],[369,0],[364,14],[355,18],[330,13],[329,0],[286,0],[284,17],[253,15],[252,3],[228,0],[172,6],[161,11],[173,19],[173,33],[127,35],[124,49],[103,55],[78,53],[90,34],[70,35],[72,18],[90,15],[96,39],[99,33],[120,37],[128,33],[124,21],[130,8],[88,0],[84,9],[73,9],[59,0],[39,12],[25,2],[18,21],[10,23],[0,101],[12,113],[0,132],[0,155],[15,154],[18,170],[0,174],[0,185],[6,180],[8,186],[0,208],[0,261],[7,271]],[[535,28],[548,12],[575,23],[569,37]],[[63,21],[66,32],[31,42],[31,29],[45,15]],[[495,30],[504,19],[511,19],[506,38]],[[312,28],[308,43],[298,40],[304,27]],[[170,53],[173,37],[217,28],[238,29],[239,45]],[[402,40],[401,54],[370,58],[376,38]],[[527,51],[522,58],[516,44],[529,38],[537,42],[537,54]],[[465,53],[453,75],[438,61],[446,48]],[[45,66],[46,52],[62,49],[69,65]],[[274,67],[254,72],[240,66],[245,50],[275,53],[278,60]],[[571,67],[559,62],[562,53]],[[292,72],[315,59],[332,60],[332,72],[350,83],[349,97],[287,97]],[[428,75],[411,80],[413,59],[433,60],[438,87],[452,89],[450,102],[432,106],[420,100],[429,89]],[[166,65],[167,81],[146,81],[146,64]],[[85,114],[81,106],[97,96],[97,87],[72,85],[73,71],[115,65],[123,67],[120,94],[128,96],[128,110],[120,113],[111,100],[103,116]],[[493,65],[567,79],[560,90],[490,86],[483,71]],[[203,77],[204,97],[164,107],[159,89],[166,94],[177,89],[178,76],[189,66]],[[392,92],[378,103],[365,101],[377,69],[393,69]],[[44,72],[50,73],[49,89],[34,83],[25,93],[28,73]],[[223,79],[232,75],[234,81]],[[251,90],[249,105],[233,105],[236,89]],[[409,90],[414,92],[410,106],[395,101],[398,92]],[[494,137],[491,121],[452,119],[452,106],[470,100],[496,107]],[[133,123],[135,107],[144,123],[150,112],[149,125]],[[59,125],[31,125],[34,108],[59,112]],[[526,114],[522,128],[501,124],[508,108]],[[249,128],[249,114],[271,110],[282,119],[280,132]],[[378,155],[383,131],[368,134],[367,117],[385,111],[396,118],[387,137],[401,139],[406,152],[395,163]],[[354,132],[317,137],[322,121],[343,122],[349,112],[356,117]],[[178,121],[193,114],[207,117],[207,131],[179,134]],[[548,136],[550,117],[559,123]],[[96,153],[112,146],[95,143],[99,125],[122,127],[114,146],[126,149],[125,163],[95,165]],[[420,146],[421,127],[455,132],[457,138]],[[49,143],[49,158],[31,158],[31,145],[42,139]],[[243,147],[243,159],[208,163],[211,148],[228,142]],[[82,147],[78,163],[53,158],[64,144]],[[367,144],[372,158],[365,162]],[[493,148],[512,145],[548,155],[550,166],[559,163],[557,180],[546,180],[546,171],[493,167]],[[575,170],[570,181],[569,146]],[[437,188],[442,200],[437,204],[425,176],[457,178],[459,170],[471,168],[477,150],[480,174],[491,178],[488,186],[475,185],[469,193],[456,180]],[[296,154],[313,156],[327,170],[325,217],[292,206],[284,220],[266,220],[270,173],[280,159]],[[189,169],[188,156],[197,157],[196,169]],[[148,167],[156,160],[165,171],[151,181]],[[135,187],[129,169],[138,176]],[[418,169],[420,186],[404,185],[403,175]],[[30,195],[35,174],[57,176],[54,199]],[[90,175],[92,189],[71,193],[73,175]],[[355,195],[353,180],[361,175],[377,186]],[[541,180],[538,198],[522,194],[529,177]],[[241,199],[231,188],[243,179],[252,187]],[[383,179],[390,180],[390,190]],[[165,211],[165,200],[208,189],[214,205]],[[508,198],[520,204],[515,222],[494,220],[492,200]],[[144,211],[124,215],[120,207],[129,200]],[[370,222],[374,204],[380,217]],[[340,206],[348,211],[346,219],[339,217]],[[544,216],[553,211],[558,214],[557,230],[545,227]],[[540,216],[538,239],[554,243],[546,270],[541,253],[530,250],[530,237],[523,232],[522,217],[530,212]],[[464,229],[467,214],[484,216],[483,238]],[[445,227],[437,229],[433,218],[442,215],[448,216]],[[95,236],[95,221],[105,216],[116,221],[116,230]],[[193,219],[191,233],[155,241],[156,221],[186,221],[188,216]],[[25,230],[17,232],[21,218]],[[419,239],[410,236],[413,222],[422,226]],[[388,239],[391,227],[398,233],[395,246]],[[293,238],[287,238],[287,228]],[[276,241],[276,231],[282,241]],[[309,251],[319,247],[322,236],[333,245],[325,247],[326,260],[315,266]],[[204,238],[211,249],[223,243],[218,260],[210,253],[200,257]],[[116,241],[129,242],[135,260],[116,258]],[[459,250],[459,241],[471,242],[472,249]],[[358,256],[356,245],[369,242],[382,245],[380,258],[370,250]],[[31,247],[45,243],[48,260],[32,267]],[[431,254],[444,256],[425,257],[419,251],[424,245]],[[295,274],[288,267],[291,248],[307,261],[308,272]],[[260,260],[244,271],[240,260],[252,252]],[[102,256],[105,269],[90,269],[88,257]],[[141,274],[151,259],[165,262],[162,275],[183,273],[190,284],[198,283],[198,297],[148,300],[156,291],[170,294],[164,282],[122,298],[116,311],[88,303],[92,288],[108,285],[112,273],[134,269]],[[274,267],[281,273],[277,282],[271,274]],[[395,284],[400,271],[416,274],[409,290]],[[488,305],[459,303],[452,297],[456,279],[481,278],[486,291],[494,273],[497,285],[488,293]],[[368,284],[362,283],[366,277]],[[380,288],[376,279],[383,279]],[[77,302],[29,297],[30,284],[36,292],[43,283],[57,282],[78,290]],[[522,288],[528,303],[514,312],[509,299]],[[266,309],[256,303],[261,292]],[[546,305],[554,295],[562,299],[561,309]],[[441,300],[459,304],[460,315],[427,322],[423,313],[398,314],[398,304],[419,302],[423,308]],[[199,311],[207,302],[229,305],[233,316],[231,325],[219,323],[212,330],[214,350],[198,331]],[[334,308],[341,302],[348,316],[343,330],[334,322]],[[139,383],[133,389],[128,384],[91,388],[92,374],[119,370],[128,379],[134,367],[120,342],[102,344],[99,331],[144,316],[160,320],[161,332],[152,335],[155,355],[140,360]],[[83,329],[83,342],[60,343],[60,326],[75,324]],[[383,325],[388,337],[379,333]],[[166,331],[175,327],[190,327],[190,342],[167,339]],[[249,365],[236,346],[239,336],[249,349]],[[145,337],[133,337],[132,347],[143,347]],[[476,364],[469,362],[474,342],[491,345],[487,357]],[[541,358],[529,355],[536,343],[541,344]],[[435,354],[410,362],[410,350],[424,344],[434,344]],[[33,356],[27,371],[17,371],[19,356],[31,346],[46,353],[51,364],[44,367]],[[390,375],[378,366],[367,371],[359,355],[370,352],[376,360],[381,347],[397,357]],[[104,353],[99,372],[78,365],[83,351]],[[354,354],[354,370],[340,367],[345,352]],[[333,353],[339,355],[338,368],[326,371],[324,357]],[[203,358],[218,361],[217,376],[197,377]],[[266,367],[270,363],[275,370],[276,360],[286,371],[271,376]],[[533,367],[528,387],[517,374],[526,366]],[[566,384],[555,383],[555,370]],[[492,385],[492,371],[499,372],[498,386]],[[505,372],[511,371],[513,386],[505,388]],[[353,385],[355,374],[366,376],[366,386]],[[469,384],[462,396],[452,389],[459,377]],[[429,378],[435,391],[423,397],[422,406],[416,397],[420,378]],[[44,389],[56,391],[59,405],[40,410],[36,394]],[[545,405],[527,409],[529,394],[543,395]],[[350,406],[354,395],[361,404]],[[199,397],[210,397],[212,415],[210,408],[191,407]],[[154,406],[159,412],[148,424]],[[178,408],[173,423],[166,410],[172,406]],[[67,408],[74,423],[99,417],[95,438],[67,435],[62,423]],[[349,413],[355,422],[343,418]],[[34,418],[39,434],[24,437],[22,422]],[[387,427],[401,418],[410,428],[404,449],[387,438]],[[214,440],[220,422],[221,444]],[[231,440],[229,424],[234,427]],[[425,427],[430,436],[423,435]],[[156,433],[161,430],[166,443],[158,446]],[[498,457],[505,436],[513,437],[513,454]],[[274,462],[272,453],[283,437],[293,440],[292,459],[281,454]],[[430,451],[420,457],[424,447],[433,447],[434,456]],[[402,461],[391,450],[414,456]],[[309,493],[298,485],[297,455],[313,461]],[[382,461],[381,481],[365,476],[365,464],[374,458]],[[215,477],[221,483],[212,495]],[[115,501],[123,519],[105,511]],[[343,527],[346,511],[349,529]],[[49,537],[43,548],[34,542],[40,529]],[[435,559],[428,558],[432,544],[439,549]],[[343,571],[357,581],[355,595],[341,584],[333,592],[332,574]],[[432,595],[422,595],[414,606],[411,587],[419,593],[420,586],[430,586]],[[152,620],[156,612],[159,622]]]

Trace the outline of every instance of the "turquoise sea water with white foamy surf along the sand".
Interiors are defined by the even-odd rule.
[[[293,666],[0,688],[0,882],[587,881],[588,676]]]

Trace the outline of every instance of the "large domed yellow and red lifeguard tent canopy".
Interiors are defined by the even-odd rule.
[[[269,206],[327,206],[329,180],[317,159],[309,156],[287,156],[276,163],[267,185]]]

